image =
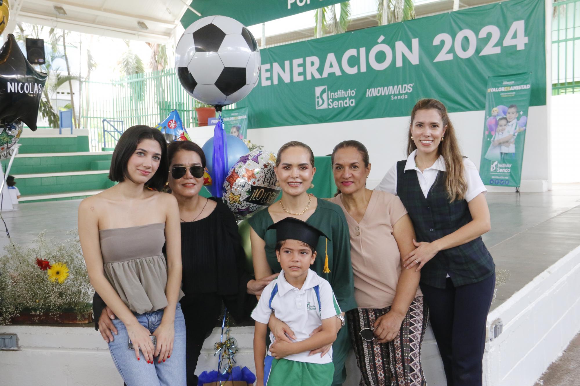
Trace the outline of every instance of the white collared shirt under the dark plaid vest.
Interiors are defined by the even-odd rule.
[[[447,167],[445,167],[445,161],[443,159],[443,155],[440,155],[437,158],[437,161],[433,163],[431,167],[427,167],[423,172],[419,170],[419,168],[415,164],[415,155],[417,150],[415,149],[408,157],[407,163],[405,163],[405,172],[407,170],[415,170],[417,173],[417,179],[419,180],[419,186],[423,191],[423,195],[427,198],[427,194],[429,194],[429,190],[435,183],[437,179],[437,174],[439,170],[442,172],[447,172]],[[470,202],[474,199],[478,194],[487,193],[487,189],[481,181],[481,177],[479,176],[479,172],[477,171],[477,167],[473,163],[472,160],[469,158],[463,158],[463,166],[465,173],[463,176],[465,177],[465,181],[467,183],[467,192],[465,194],[465,201]],[[394,195],[397,195],[397,163],[393,165],[383,177],[383,180],[380,181],[379,185],[375,188],[376,190],[389,192]]]

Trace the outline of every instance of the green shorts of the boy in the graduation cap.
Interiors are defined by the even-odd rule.
[[[330,386],[333,375],[332,362],[298,362],[284,358],[275,359],[270,355],[264,360],[264,386]]]

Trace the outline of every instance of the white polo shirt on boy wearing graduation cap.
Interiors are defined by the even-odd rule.
[[[320,304],[318,303],[317,291],[320,295]],[[276,280],[271,281],[264,288],[258,305],[252,311],[252,319],[268,324],[272,311],[276,314],[276,318],[286,323],[294,332],[296,342],[310,338],[314,329],[322,324],[322,319],[334,318],[342,312],[336,302],[330,283],[312,270],[308,270],[306,281],[300,289],[286,281],[284,270],[280,272]],[[272,333],[270,333],[270,341],[274,342]],[[320,355],[308,356],[308,353],[309,351],[305,351],[288,355],[285,359],[309,363],[332,362],[332,348],[322,358]],[[268,355],[271,355],[270,349]]]

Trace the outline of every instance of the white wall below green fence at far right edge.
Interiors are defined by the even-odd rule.
[[[552,180],[554,183],[579,183],[578,108],[580,94],[552,97]]]

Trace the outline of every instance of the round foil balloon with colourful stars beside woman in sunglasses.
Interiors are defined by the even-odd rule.
[[[272,152],[254,150],[230,169],[222,198],[236,219],[248,219],[276,200],[280,187],[276,186],[274,166],[276,156]]]

